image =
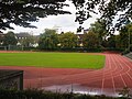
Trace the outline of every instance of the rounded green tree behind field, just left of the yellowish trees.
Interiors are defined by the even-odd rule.
[[[45,29],[45,32],[40,35],[38,47],[41,50],[55,50],[58,44],[58,34],[55,30]]]

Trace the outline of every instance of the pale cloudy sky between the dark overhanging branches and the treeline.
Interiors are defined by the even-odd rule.
[[[11,26],[13,26],[14,30],[7,30],[3,31],[3,33],[12,31],[14,33],[29,32],[33,35],[38,35],[40,33],[44,32],[44,29],[58,29],[58,33],[69,31],[76,32],[77,28],[79,28],[79,23],[75,22],[76,9],[70,1],[67,1],[67,3],[69,3],[69,7],[65,7],[64,10],[70,11],[72,14],[48,15],[47,18],[40,19],[38,22],[32,22],[31,24],[37,26],[37,29],[22,28],[11,24]],[[82,26],[85,29],[88,29],[90,24],[94,23],[99,16],[99,14],[92,14],[92,18],[85,21]]]

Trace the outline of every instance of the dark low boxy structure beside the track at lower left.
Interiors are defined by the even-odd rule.
[[[23,89],[23,70],[0,69],[0,88]]]

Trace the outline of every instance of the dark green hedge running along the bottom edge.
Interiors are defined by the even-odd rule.
[[[131,98],[114,98],[105,95],[90,96],[73,92],[51,92],[38,89],[26,90],[4,90],[0,89],[0,99],[131,99]]]

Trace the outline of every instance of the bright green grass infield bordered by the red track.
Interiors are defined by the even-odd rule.
[[[105,56],[87,53],[0,53],[0,66],[102,68]]]

